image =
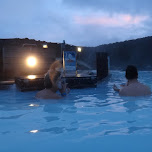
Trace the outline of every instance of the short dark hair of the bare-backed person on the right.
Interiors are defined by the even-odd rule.
[[[126,78],[127,79],[137,79],[138,71],[137,68],[133,65],[128,65],[126,69]]]

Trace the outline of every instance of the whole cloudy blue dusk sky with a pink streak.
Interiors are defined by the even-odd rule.
[[[152,36],[151,0],[0,0],[0,38],[97,46]]]

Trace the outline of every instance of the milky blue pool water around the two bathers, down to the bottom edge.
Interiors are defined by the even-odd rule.
[[[61,100],[0,90],[0,152],[151,152],[152,96],[120,97],[112,86],[124,75],[111,71],[97,88]],[[139,81],[152,89],[152,72],[139,72]]]

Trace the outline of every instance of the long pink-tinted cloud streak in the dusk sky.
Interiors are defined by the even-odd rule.
[[[115,14],[113,16],[101,15],[96,16],[76,16],[75,22],[77,24],[102,25],[109,27],[126,27],[130,25],[141,25],[148,20],[148,16],[132,16],[130,14]]]

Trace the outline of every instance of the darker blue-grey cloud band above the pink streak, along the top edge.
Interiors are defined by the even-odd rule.
[[[77,10],[91,9],[94,11],[102,10],[111,13],[147,13],[152,12],[151,0],[63,0],[63,5]]]

